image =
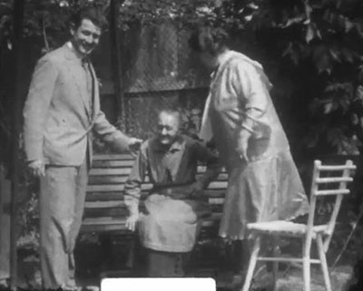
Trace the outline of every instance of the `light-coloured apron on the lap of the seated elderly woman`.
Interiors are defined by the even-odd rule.
[[[204,201],[181,199],[182,195],[183,189],[178,187],[145,200],[138,226],[144,247],[164,252],[190,252],[194,247],[201,219],[211,213],[211,207]]]

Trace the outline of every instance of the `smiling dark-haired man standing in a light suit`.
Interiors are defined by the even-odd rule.
[[[83,8],[71,19],[71,39],[37,63],[25,102],[25,153],[41,179],[40,257],[44,288],[75,288],[74,245],[82,223],[92,135],[118,150],[140,140],[111,125],[100,110],[88,55],[99,43],[104,16]]]

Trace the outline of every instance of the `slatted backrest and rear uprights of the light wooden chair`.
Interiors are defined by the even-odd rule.
[[[314,218],[316,214],[317,199],[327,196],[335,196],[334,207],[331,211],[329,221],[324,225],[324,249],[329,248],[329,243],[338,218],[338,212],[344,195],[349,194],[347,189],[348,182],[353,181],[351,176],[356,166],[351,160],[345,164],[339,165],[322,165],[320,160],[314,161],[314,169],[310,189],[310,209],[308,218],[308,229],[306,246],[310,247],[313,235]],[[315,226],[316,227],[316,226]]]

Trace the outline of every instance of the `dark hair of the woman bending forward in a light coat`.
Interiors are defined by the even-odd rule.
[[[198,53],[211,53],[217,55],[227,46],[229,35],[220,27],[197,27],[189,38],[191,50]]]

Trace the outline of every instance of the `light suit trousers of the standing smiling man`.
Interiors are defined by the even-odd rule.
[[[39,197],[40,258],[43,287],[74,283],[74,245],[82,224],[87,162],[80,167],[48,165]]]

